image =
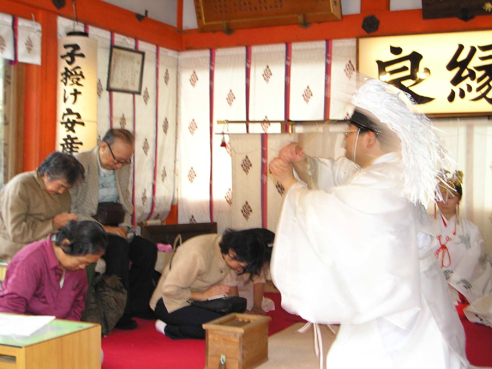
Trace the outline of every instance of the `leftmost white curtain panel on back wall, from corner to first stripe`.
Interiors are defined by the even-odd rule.
[[[210,221],[210,51],[179,55],[178,221]]]

